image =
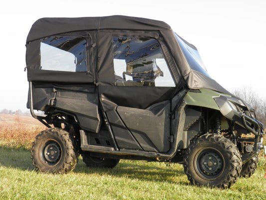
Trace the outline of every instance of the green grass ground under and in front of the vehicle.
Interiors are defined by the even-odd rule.
[[[121,160],[113,169],[88,168],[59,175],[33,170],[27,149],[0,147],[0,199],[266,199],[266,163],[230,189],[189,184],[181,164]]]

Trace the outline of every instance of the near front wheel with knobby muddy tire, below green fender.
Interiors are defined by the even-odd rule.
[[[229,188],[241,172],[241,154],[221,134],[204,134],[192,141],[184,156],[184,170],[192,184]]]

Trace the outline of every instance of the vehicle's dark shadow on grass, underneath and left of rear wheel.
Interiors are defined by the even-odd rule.
[[[0,147],[0,165],[6,167],[13,167],[22,170],[33,170],[30,150],[28,149],[14,149],[10,147]],[[187,181],[182,181],[181,176],[184,176],[183,167],[173,167],[163,165],[153,166],[150,162],[142,161],[129,161],[129,162],[120,162],[113,169],[104,169],[104,168],[89,168],[82,161],[82,158],[79,157],[79,162],[75,169],[73,170],[76,173],[97,173],[100,175],[111,175],[116,177],[125,177],[139,180],[149,180],[149,181],[158,181],[158,182],[171,182],[178,184],[189,183]],[[176,178],[180,176],[180,178]]]

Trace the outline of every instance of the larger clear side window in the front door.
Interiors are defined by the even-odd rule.
[[[135,36],[112,39],[116,85],[175,86],[156,39]]]

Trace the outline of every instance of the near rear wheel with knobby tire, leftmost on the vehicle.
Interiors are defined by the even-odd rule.
[[[31,158],[33,166],[46,173],[67,173],[77,163],[71,135],[56,127],[43,130],[35,137]]]

